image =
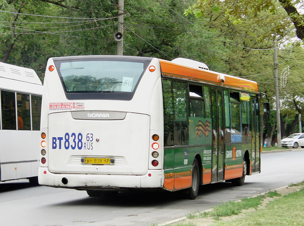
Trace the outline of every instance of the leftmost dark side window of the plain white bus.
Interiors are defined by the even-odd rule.
[[[2,129],[16,130],[15,93],[1,91]]]

